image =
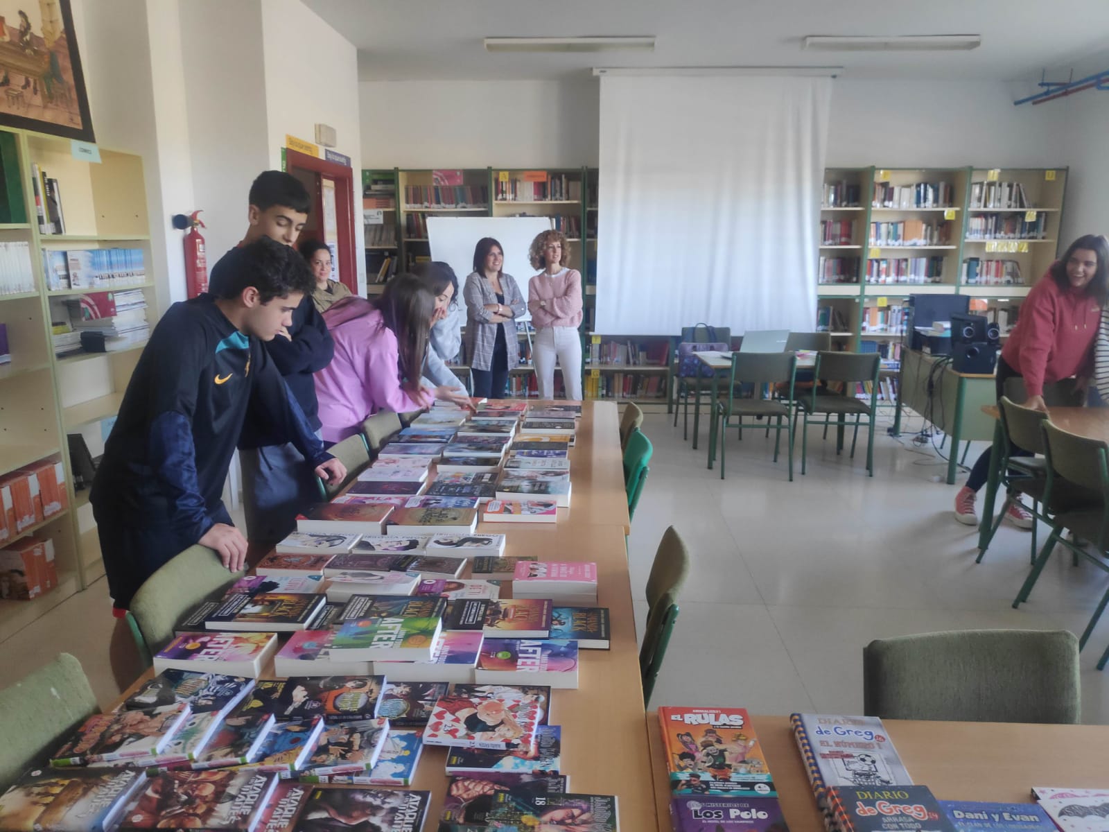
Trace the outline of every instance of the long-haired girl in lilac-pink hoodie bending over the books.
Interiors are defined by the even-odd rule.
[[[345,297],[324,313],[335,357],[316,373],[324,442],[359,430],[378,410],[410,413],[435,395],[420,386],[435,298],[410,274],[385,285],[376,302]]]

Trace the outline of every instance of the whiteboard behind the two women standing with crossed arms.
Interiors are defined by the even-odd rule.
[[[528,248],[537,235],[551,227],[549,216],[429,216],[427,236],[431,260],[450,264],[458,275],[458,291],[466,275],[474,271],[474,248],[481,237],[497,240],[505,251],[501,271],[516,278],[523,300],[528,300],[528,281],[540,270],[528,262]],[[521,321],[529,318],[525,314]]]

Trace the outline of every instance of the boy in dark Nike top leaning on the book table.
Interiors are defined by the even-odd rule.
[[[262,237],[240,250],[218,296],[175,303],[154,327],[92,484],[116,608],[193,544],[215,549],[233,571],[243,568],[246,540],[221,495],[248,408],[318,476],[346,476],[262,346],[288,326],[312,285],[299,254]]]

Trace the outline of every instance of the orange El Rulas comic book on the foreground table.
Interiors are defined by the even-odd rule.
[[[744,708],[659,708],[675,794],[774,798],[773,778]]]

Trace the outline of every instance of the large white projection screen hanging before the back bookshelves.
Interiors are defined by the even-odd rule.
[[[811,332],[831,78],[601,78],[597,322]]]

